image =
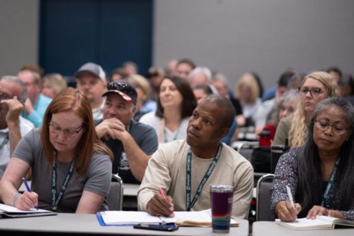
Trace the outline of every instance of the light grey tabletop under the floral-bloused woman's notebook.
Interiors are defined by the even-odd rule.
[[[295,231],[274,222],[253,222],[252,236],[353,236],[354,228],[335,228],[333,230]]]

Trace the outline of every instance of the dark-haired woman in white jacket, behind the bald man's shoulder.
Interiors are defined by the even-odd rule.
[[[187,138],[189,117],[197,106],[189,83],[176,76],[165,76],[160,85],[156,112],[139,120],[156,130],[158,143]]]

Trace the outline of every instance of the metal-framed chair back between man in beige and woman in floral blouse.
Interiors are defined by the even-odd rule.
[[[270,210],[270,188],[273,185],[274,174],[266,174],[257,182],[257,221],[274,221],[274,212]]]

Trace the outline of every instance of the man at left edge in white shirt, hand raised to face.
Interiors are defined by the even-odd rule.
[[[27,99],[27,86],[15,76],[0,79],[0,178],[17,143],[34,128],[21,117]]]

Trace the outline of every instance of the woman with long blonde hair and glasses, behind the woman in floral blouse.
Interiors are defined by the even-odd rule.
[[[294,115],[279,122],[272,145],[285,144],[285,139],[289,139],[290,147],[303,145],[307,137],[307,126],[317,104],[327,97],[338,96],[339,89],[329,73],[316,71],[305,76],[299,93],[300,102]]]

